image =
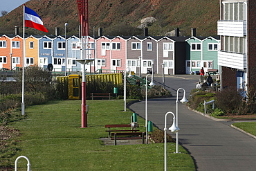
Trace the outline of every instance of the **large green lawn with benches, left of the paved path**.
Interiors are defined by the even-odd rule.
[[[20,151],[31,170],[164,170],[164,144],[104,145],[107,124],[129,124],[131,111],[123,110],[123,100],[87,100],[88,127],[81,127],[81,101],[48,102],[26,108],[26,119],[12,124],[21,131]],[[139,129],[145,120],[138,117]],[[169,170],[195,170],[191,156],[182,147],[174,154],[175,143],[167,143]],[[19,170],[26,170],[19,159]]]

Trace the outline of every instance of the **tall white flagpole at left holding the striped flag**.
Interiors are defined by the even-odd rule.
[[[22,59],[22,102],[21,102],[22,115],[25,114],[24,78],[25,78],[25,5],[23,6],[23,59]]]

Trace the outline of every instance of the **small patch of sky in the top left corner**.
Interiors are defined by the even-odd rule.
[[[9,13],[27,1],[29,0],[0,0],[0,16],[2,10],[6,10]]]

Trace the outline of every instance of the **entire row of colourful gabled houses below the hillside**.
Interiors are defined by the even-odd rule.
[[[89,36],[86,44],[77,36],[26,35],[25,66],[38,65],[67,73],[81,71],[81,49],[86,58],[86,72],[109,73],[131,69],[135,73],[189,74],[204,67],[219,69],[219,37],[183,36]],[[23,62],[23,37],[0,35],[0,69],[20,69]],[[86,47],[83,47],[86,46]],[[164,68],[163,68],[164,66]]]

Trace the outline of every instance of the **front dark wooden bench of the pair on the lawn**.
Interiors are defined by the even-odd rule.
[[[142,139],[143,144],[145,143],[145,132],[113,132],[111,133],[111,136],[114,136],[111,138],[111,140],[127,140],[127,139]],[[121,137],[117,137],[121,136]]]

